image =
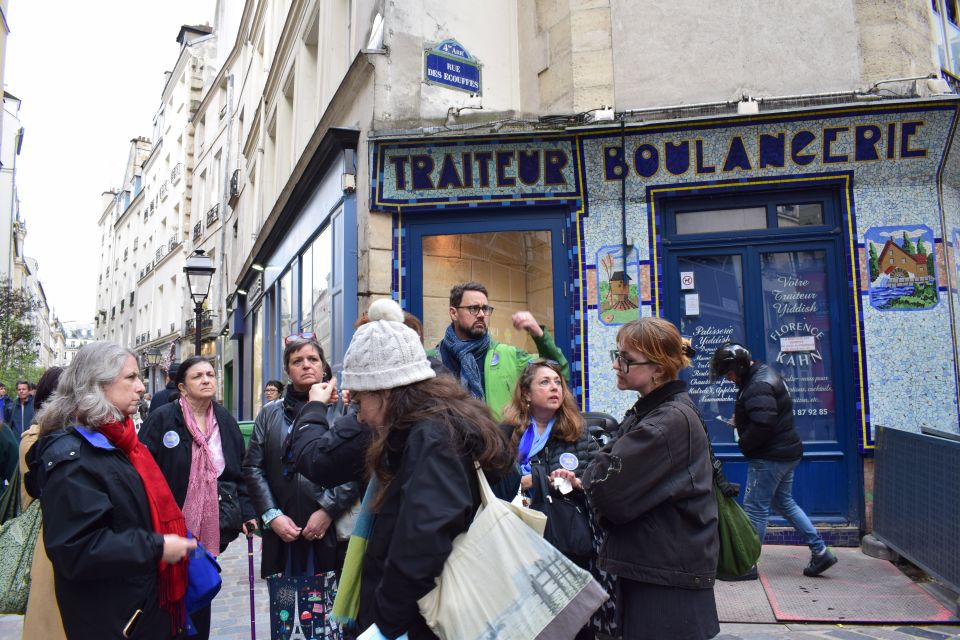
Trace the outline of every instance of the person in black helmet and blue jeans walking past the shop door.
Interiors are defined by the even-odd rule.
[[[747,458],[743,510],[757,529],[760,542],[767,531],[770,509],[782,515],[810,547],[805,576],[818,576],[837,563],[810,518],[793,499],[793,472],[803,458],[803,442],[793,425],[793,400],[780,374],[757,362],[741,344],[721,345],[710,360],[712,380],[726,378],[737,385],[733,427]],[[753,567],[741,576],[756,579]]]

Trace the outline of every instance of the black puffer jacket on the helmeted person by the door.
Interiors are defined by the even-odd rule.
[[[793,401],[780,374],[762,363],[750,367],[734,409],[740,451],[747,458],[798,460],[803,443],[793,427]]]

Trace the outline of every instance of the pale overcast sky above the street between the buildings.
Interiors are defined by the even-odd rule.
[[[93,322],[101,194],[120,186],[130,139],[153,133],[180,25],[212,24],[214,5],[10,0],[4,89],[23,101],[26,254],[61,321]]]

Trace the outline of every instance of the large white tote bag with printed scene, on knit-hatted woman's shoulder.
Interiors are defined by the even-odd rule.
[[[443,640],[573,638],[607,594],[543,539],[542,513],[498,499],[477,475],[480,509],[420,613]]]

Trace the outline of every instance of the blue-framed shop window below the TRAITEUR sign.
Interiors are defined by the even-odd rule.
[[[532,209],[442,212],[404,218],[401,245],[407,277],[400,295],[421,318],[424,344],[439,344],[450,324],[454,284],[483,284],[494,307],[490,337],[536,353],[533,340],[511,321],[530,311],[571,359],[569,257],[562,211]]]

